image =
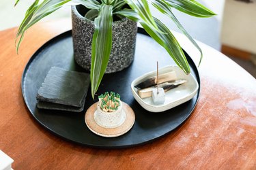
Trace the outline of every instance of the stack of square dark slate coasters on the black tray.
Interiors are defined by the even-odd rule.
[[[38,90],[38,108],[82,112],[89,82],[88,73],[52,67]]]

